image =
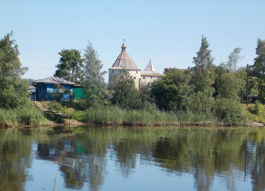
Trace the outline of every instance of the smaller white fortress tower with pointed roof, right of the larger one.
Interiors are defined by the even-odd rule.
[[[144,82],[145,84],[148,84],[149,82],[154,81],[155,79],[158,79],[161,74],[156,71],[154,68],[154,65],[152,64],[151,60],[148,62],[147,66],[145,69],[142,71],[141,74],[141,81]]]

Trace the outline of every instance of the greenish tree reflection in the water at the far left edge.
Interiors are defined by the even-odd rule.
[[[0,132],[0,190],[25,190],[31,166],[31,138],[24,132]]]

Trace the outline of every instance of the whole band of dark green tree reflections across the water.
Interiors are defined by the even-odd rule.
[[[60,128],[42,133],[49,136],[34,135],[38,157],[63,163],[61,172],[69,189],[87,183],[91,190],[99,190],[108,159],[116,161],[125,178],[134,173],[136,163],[151,161],[178,176],[192,174],[196,190],[210,190],[217,174],[227,190],[236,189],[238,177],[251,178],[253,191],[265,188],[264,129],[76,127],[69,134],[59,134]],[[11,132],[0,134],[0,140],[0,190],[23,190],[32,137]]]

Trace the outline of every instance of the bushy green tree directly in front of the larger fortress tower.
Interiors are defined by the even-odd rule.
[[[134,79],[125,69],[115,76],[112,103],[124,109],[138,109],[141,107],[141,99],[135,88]]]

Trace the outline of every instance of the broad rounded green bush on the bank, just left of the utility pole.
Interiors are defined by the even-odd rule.
[[[243,106],[234,99],[217,98],[214,105],[214,113],[219,120],[228,124],[244,124],[247,117],[244,114]]]

